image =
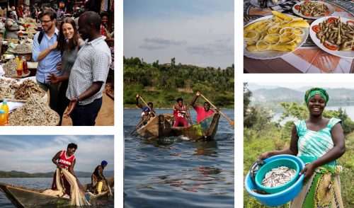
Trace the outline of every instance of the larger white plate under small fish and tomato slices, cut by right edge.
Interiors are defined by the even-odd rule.
[[[333,16],[334,18],[339,18],[338,16]],[[319,25],[319,23],[324,22],[326,19],[328,19],[329,17],[324,17],[324,18],[320,18],[316,21],[314,21],[311,25],[310,25],[310,37],[312,39],[312,41],[314,41],[314,44],[316,44],[319,48],[321,48],[321,50],[324,50],[325,52],[328,52],[330,54],[333,54],[337,57],[343,57],[343,58],[348,58],[348,59],[354,59],[354,51],[353,50],[348,50],[348,51],[339,51],[339,50],[329,50],[328,48],[324,47],[324,45],[321,43],[321,41],[319,40],[319,38],[316,37],[316,33],[314,32],[314,30],[312,30],[311,28],[314,25]],[[348,18],[343,18],[341,17],[341,21],[343,23],[346,23],[347,21],[352,21]]]

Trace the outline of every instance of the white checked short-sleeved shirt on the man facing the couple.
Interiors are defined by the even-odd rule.
[[[98,37],[91,42],[87,42],[77,53],[76,61],[72,67],[67,88],[67,98],[70,100],[75,96],[80,96],[96,81],[102,81],[103,85],[96,94],[81,100],[80,105],[87,105],[102,97],[105,88],[105,80],[110,68],[110,49],[105,43],[105,37]]]

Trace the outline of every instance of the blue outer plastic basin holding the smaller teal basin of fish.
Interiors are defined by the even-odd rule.
[[[266,163],[279,159],[279,158],[289,158],[294,161],[296,161],[299,165],[300,170],[304,169],[304,162],[297,156],[292,156],[292,155],[287,155],[287,154],[282,154],[278,156],[273,156],[270,158],[266,158],[264,161]],[[282,190],[281,192],[275,193],[275,194],[270,194],[270,195],[261,195],[258,194],[257,192],[254,192],[253,190],[261,190],[255,183],[252,182],[251,178],[249,177],[249,173],[247,173],[246,178],[245,178],[245,188],[247,192],[252,197],[256,197],[256,199],[261,202],[261,204],[265,206],[270,206],[270,207],[275,207],[275,206],[280,206],[282,204],[286,204],[287,202],[290,202],[293,200],[301,191],[302,185],[303,185],[303,180],[304,180],[304,174],[300,175],[300,177],[297,179],[297,181],[290,187],[288,187],[285,190]]]

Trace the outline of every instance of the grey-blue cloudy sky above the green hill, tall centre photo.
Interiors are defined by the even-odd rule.
[[[233,0],[129,0],[124,2],[124,55],[144,62],[231,67]]]

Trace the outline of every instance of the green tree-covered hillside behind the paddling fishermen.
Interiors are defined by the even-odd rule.
[[[124,57],[123,64],[125,108],[134,108],[137,93],[154,108],[172,108],[177,98],[190,102],[197,91],[218,108],[234,108],[234,64],[215,69],[175,64],[174,58],[171,64],[148,64],[137,57]]]

